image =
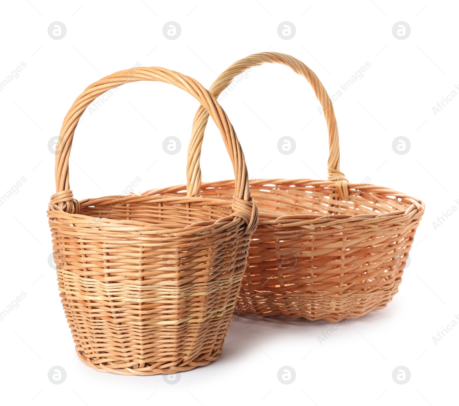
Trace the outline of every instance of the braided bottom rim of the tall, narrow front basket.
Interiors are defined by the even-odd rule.
[[[217,360],[218,355],[222,353],[222,346],[218,346],[218,348],[214,348],[212,353],[197,355],[193,360],[189,360],[184,362],[180,366],[174,366],[170,368],[154,368],[154,367],[143,367],[143,368],[120,368],[116,364],[115,365],[106,365],[107,363],[104,362],[103,358],[91,358],[87,355],[84,355],[83,349],[75,345],[75,350],[77,351],[78,358],[88,367],[95,369],[97,372],[111,372],[116,373],[118,375],[158,375],[158,374],[173,374],[177,372],[189,371],[190,369],[196,367],[203,367],[204,365],[209,364],[212,361]]]

